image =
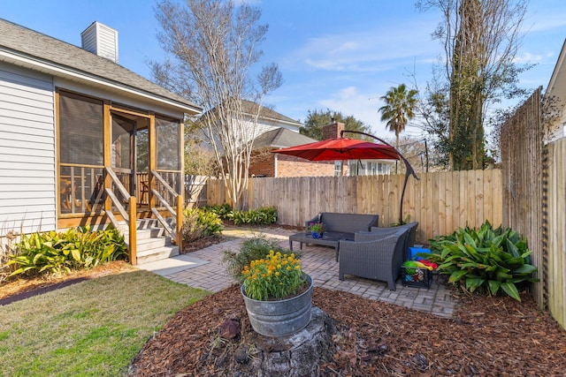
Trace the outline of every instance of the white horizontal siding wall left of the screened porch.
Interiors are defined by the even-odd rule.
[[[0,63],[0,229],[57,226],[54,86]]]

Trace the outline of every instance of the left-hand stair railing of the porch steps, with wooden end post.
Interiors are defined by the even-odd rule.
[[[136,234],[136,200],[135,200],[135,196],[130,196],[130,193],[127,192],[126,187],[124,187],[124,185],[122,185],[122,182],[120,182],[119,177],[116,175],[116,173],[111,170],[110,168],[104,168],[104,170],[106,171],[106,174],[108,175],[108,177],[111,178],[112,184],[114,185],[114,187],[116,187],[116,189],[118,189],[119,193],[122,195],[123,198],[127,199],[127,211],[126,208],[122,205],[122,202],[119,200],[119,198],[116,196],[116,194],[114,194],[114,192],[111,190],[111,188],[106,187],[104,189],[104,191],[106,192],[107,198],[109,198],[111,200],[111,203],[114,205],[114,207],[116,207],[120,213],[120,215],[122,215],[122,217],[124,218],[124,221],[126,222],[127,228],[128,228],[128,250],[129,250],[129,258],[130,258],[130,263],[132,263],[133,265],[137,264],[137,251],[136,251],[136,243],[137,243],[137,234]],[[111,210],[105,210],[104,214],[108,216],[108,218],[110,219],[112,225],[114,225],[114,227],[116,229],[119,229],[119,222],[116,219],[116,217],[114,216],[114,214],[112,213]]]

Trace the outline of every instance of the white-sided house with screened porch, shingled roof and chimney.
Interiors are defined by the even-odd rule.
[[[138,218],[155,205],[142,184],[182,195],[183,119],[202,109],[116,64],[110,27],[83,36],[91,50],[0,19],[0,245],[10,230],[106,225],[117,184]]]

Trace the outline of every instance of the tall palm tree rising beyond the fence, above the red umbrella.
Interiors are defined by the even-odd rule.
[[[417,106],[417,90],[410,89],[401,84],[399,87],[391,87],[386,95],[380,97],[386,102],[385,106],[379,108],[381,121],[387,122],[387,128],[395,132],[395,147],[399,147],[399,134],[405,130],[405,125],[415,117],[414,109]]]

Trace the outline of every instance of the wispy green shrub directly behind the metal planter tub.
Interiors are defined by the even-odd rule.
[[[244,240],[238,252],[225,251],[222,262],[226,264],[226,273],[240,283],[243,283],[241,272],[249,266],[252,260],[262,260],[270,252],[291,255],[292,252],[284,249],[278,241],[265,238],[264,235]],[[301,259],[301,253],[294,253],[294,257]]]

